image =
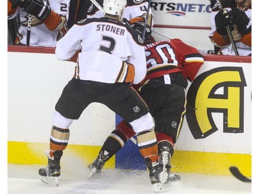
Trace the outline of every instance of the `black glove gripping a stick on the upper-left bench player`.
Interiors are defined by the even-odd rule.
[[[34,15],[39,20],[44,20],[50,14],[50,6],[45,0],[24,0],[27,3],[23,6],[23,10]]]

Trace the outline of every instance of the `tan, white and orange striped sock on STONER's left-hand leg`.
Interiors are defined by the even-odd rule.
[[[68,146],[69,139],[69,129],[68,128],[58,128],[52,126],[50,135],[50,157],[53,157],[55,151],[64,151],[66,146]]]

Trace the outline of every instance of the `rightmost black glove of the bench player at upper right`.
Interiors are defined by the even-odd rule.
[[[251,21],[244,11],[238,8],[232,8],[232,10],[229,11],[229,17],[231,23],[235,23],[238,26],[238,32],[242,35],[247,35],[251,32]]]

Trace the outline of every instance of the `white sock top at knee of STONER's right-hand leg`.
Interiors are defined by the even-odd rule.
[[[154,127],[154,122],[150,113],[135,119],[133,122],[130,122],[131,126],[135,133],[140,133],[144,130],[151,130]]]

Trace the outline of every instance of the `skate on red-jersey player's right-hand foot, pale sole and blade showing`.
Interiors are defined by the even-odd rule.
[[[171,171],[171,154],[170,148],[163,146],[160,148],[160,155],[158,157],[158,163],[160,170],[160,181],[164,184],[169,181],[170,171]]]

